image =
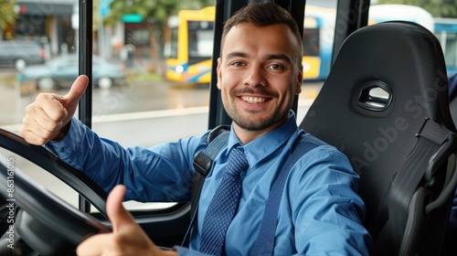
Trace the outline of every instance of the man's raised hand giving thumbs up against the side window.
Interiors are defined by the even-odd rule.
[[[54,140],[71,120],[88,82],[88,77],[82,75],[73,82],[67,95],[38,94],[35,102],[27,106],[20,131],[27,143],[42,145]]]

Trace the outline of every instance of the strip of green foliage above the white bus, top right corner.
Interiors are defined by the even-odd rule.
[[[379,4],[417,5],[435,17],[457,17],[457,0],[379,0]]]

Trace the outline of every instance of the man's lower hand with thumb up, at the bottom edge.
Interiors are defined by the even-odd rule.
[[[177,255],[175,251],[163,251],[136,224],[132,215],[122,206],[125,187],[118,185],[106,201],[108,218],[112,221],[112,233],[99,234],[84,240],[78,246],[78,255]]]

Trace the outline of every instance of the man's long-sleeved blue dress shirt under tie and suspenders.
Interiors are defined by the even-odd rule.
[[[193,158],[205,149],[208,132],[151,148],[125,149],[99,138],[77,119],[71,122],[69,134],[46,147],[106,191],[124,184],[126,200],[190,199]],[[272,183],[290,157],[292,144],[307,135],[297,128],[291,112],[281,126],[243,145],[250,166],[241,176],[241,197],[228,227],[226,255],[250,255]],[[232,128],[227,148],[219,153],[202,187],[190,249],[175,247],[180,255],[201,255],[197,251],[209,201],[224,175],[230,150],[239,144]],[[316,147],[298,160],[282,194],[274,255],[368,255],[372,241],[362,226],[365,205],[356,194],[358,180],[345,155],[333,146]]]

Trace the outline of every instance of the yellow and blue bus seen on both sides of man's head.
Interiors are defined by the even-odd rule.
[[[215,7],[181,10],[168,18],[165,33],[167,80],[209,83]],[[335,10],[306,6],[303,30],[303,80],[324,80],[330,70]]]

